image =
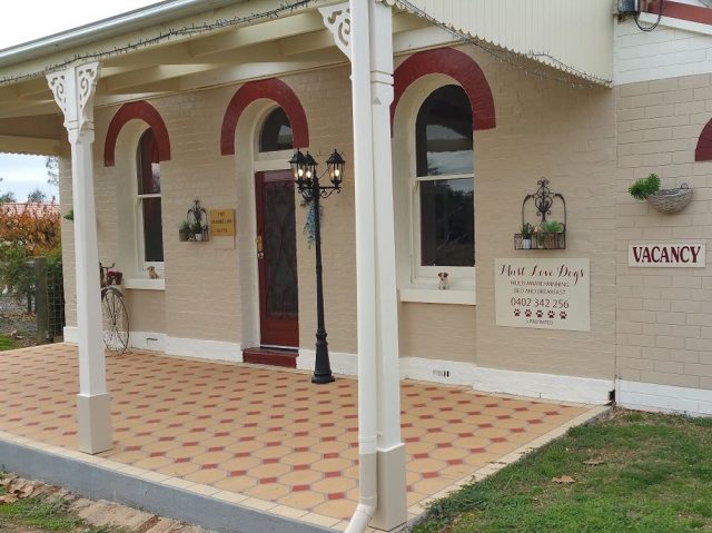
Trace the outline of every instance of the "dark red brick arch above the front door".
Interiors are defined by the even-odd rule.
[[[307,115],[301,102],[291,88],[277,78],[259,81],[248,81],[240,87],[230,99],[222,118],[220,130],[220,154],[235,155],[235,130],[243,111],[255,100],[268,99],[277,102],[287,115],[294,136],[294,146],[306,148],[309,146],[309,128]]]

